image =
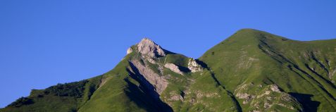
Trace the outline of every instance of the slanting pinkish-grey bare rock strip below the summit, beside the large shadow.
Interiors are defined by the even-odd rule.
[[[130,63],[139,70],[140,75],[144,76],[144,78],[154,86],[154,89],[158,94],[161,94],[168,86],[168,81],[164,77],[154,73],[149,67],[142,65],[142,63],[137,60],[132,60]]]

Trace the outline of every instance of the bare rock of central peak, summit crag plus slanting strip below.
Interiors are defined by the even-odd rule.
[[[150,39],[144,38],[136,45],[136,47],[127,49],[127,54],[132,53],[132,51],[138,52],[140,57],[130,60],[130,63],[132,66],[135,66],[135,70],[137,70],[138,73],[135,72],[135,70],[130,70],[130,72],[137,75],[142,75],[143,77],[140,78],[141,82],[143,82],[147,88],[154,89],[157,94],[161,95],[161,93],[168,86],[168,81],[165,79],[165,77],[155,73],[147,63],[142,63],[139,60],[156,64],[159,66],[157,69],[162,71],[161,68],[163,67],[158,62],[156,62],[156,59],[160,56],[166,56],[165,50]]]

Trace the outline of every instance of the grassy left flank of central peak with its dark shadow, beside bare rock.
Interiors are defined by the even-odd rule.
[[[126,56],[116,68],[104,74],[104,85],[94,92],[79,111],[156,111],[163,103],[153,99],[140,88],[140,82],[130,77],[128,60],[137,58],[135,54]]]

